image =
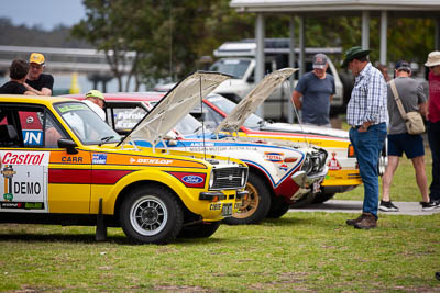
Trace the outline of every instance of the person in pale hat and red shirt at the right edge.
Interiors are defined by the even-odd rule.
[[[432,182],[429,187],[431,201],[440,201],[440,52],[431,52],[425,64],[429,72],[429,99],[427,133],[432,154]]]

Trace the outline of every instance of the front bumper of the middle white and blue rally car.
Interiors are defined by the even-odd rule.
[[[300,200],[304,195],[312,192],[316,193],[320,189],[320,184],[326,178],[326,174],[328,172],[327,166],[322,169],[322,171],[314,174],[307,174],[305,171],[298,171],[295,174],[292,176],[292,179],[295,181],[295,183],[299,187],[299,189],[295,192],[294,195],[292,195],[290,200],[292,201],[298,201]]]

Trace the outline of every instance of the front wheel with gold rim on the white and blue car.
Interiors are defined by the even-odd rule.
[[[248,200],[243,201],[238,213],[224,218],[224,223],[229,225],[257,224],[267,216],[271,209],[271,191],[265,180],[250,172],[246,191],[249,192]]]

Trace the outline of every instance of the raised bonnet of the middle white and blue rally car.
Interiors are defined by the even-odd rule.
[[[274,89],[292,76],[298,68],[283,68],[267,75],[216,128],[216,133],[226,129],[238,132],[244,121],[271,95]]]

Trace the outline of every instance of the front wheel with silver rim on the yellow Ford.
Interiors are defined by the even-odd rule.
[[[163,187],[133,190],[123,201],[120,222],[125,235],[142,244],[167,244],[180,233],[184,213],[173,193]]]

